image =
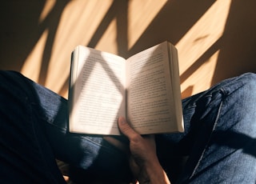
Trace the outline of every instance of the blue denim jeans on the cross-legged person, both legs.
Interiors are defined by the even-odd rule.
[[[256,182],[255,91],[256,74],[242,74],[182,100],[185,132],[155,137],[171,182]],[[65,98],[1,71],[0,183],[65,183],[55,158],[70,163],[77,182],[131,177],[126,154],[102,136],[68,131]]]

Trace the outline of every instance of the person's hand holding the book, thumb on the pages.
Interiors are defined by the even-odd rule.
[[[139,183],[170,183],[158,162],[154,135],[141,136],[126,122],[118,118],[122,134],[130,141],[130,169]]]

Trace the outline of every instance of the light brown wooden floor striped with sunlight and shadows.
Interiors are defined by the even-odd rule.
[[[67,97],[70,53],[84,45],[129,57],[168,40],[182,98],[256,72],[256,1],[2,2],[0,70],[18,70]]]

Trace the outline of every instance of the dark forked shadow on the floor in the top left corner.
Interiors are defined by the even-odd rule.
[[[45,85],[54,38],[62,12],[70,0],[57,0],[46,18],[38,23],[46,1],[4,1],[1,6],[3,29],[1,30],[1,69],[22,70],[26,58],[36,46],[42,34],[48,30],[46,45],[42,53],[42,64],[38,81]],[[8,58],[8,62],[6,62]],[[9,66],[9,67],[8,67]]]

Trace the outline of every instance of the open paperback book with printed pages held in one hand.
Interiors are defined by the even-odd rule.
[[[118,135],[119,116],[139,134],[182,132],[177,50],[162,42],[125,59],[77,46],[69,108],[74,133]]]

